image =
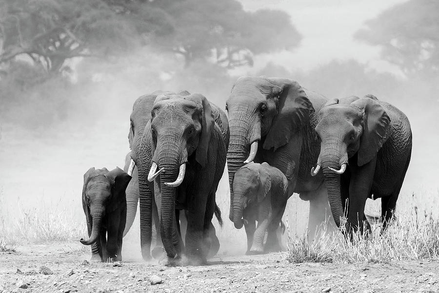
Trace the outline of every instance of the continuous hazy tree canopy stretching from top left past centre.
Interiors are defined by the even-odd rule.
[[[126,54],[144,45],[225,67],[299,44],[290,17],[246,12],[237,0],[0,0],[0,64],[30,58],[47,72],[73,57]]]

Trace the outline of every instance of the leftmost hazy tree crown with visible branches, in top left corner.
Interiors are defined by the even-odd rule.
[[[57,73],[70,58],[124,52],[146,42],[159,27],[166,31],[164,12],[137,1],[116,2],[0,0],[0,64],[28,56]]]

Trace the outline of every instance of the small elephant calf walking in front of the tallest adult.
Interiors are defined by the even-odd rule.
[[[264,253],[264,237],[273,215],[288,199],[288,181],[278,168],[250,162],[235,173],[233,180],[233,222],[242,228],[247,221],[247,254]],[[256,227],[258,221],[258,227]]]

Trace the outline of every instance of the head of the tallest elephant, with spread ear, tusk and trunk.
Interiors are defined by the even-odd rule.
[[[233,178],[244,164],[254,160],[259,142],[264,149],[276,150],[294,139],[309,120],[314,108],[304,88],[282,78],[243,77],[232,87],[226,103],[230,143],[227,168],[231,194],[230,220],[233,221]]]

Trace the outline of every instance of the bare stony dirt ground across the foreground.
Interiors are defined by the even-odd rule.
[[[437,261],[290,264],[271,253],[220,255],[199,267],[152,265],[129,256],[122,263],[89,264],[89,248],[77,243],[20,246],[0,258],[0,293],[439,292]]]

